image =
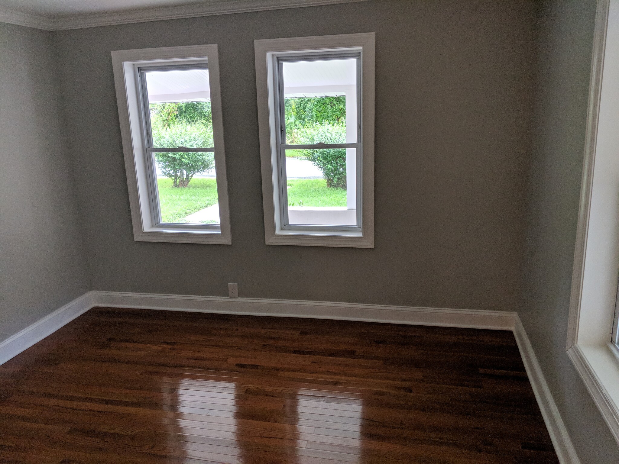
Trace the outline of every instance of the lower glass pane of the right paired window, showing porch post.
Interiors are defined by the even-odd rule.
[[[288,224],[357,225],[356,152],[286,150]]]

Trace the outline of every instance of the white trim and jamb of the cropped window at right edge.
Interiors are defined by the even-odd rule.
[[[619,271],[617,53],[619,0],[598,0],[566,348],[619,444],[619,351],[611,343]]]

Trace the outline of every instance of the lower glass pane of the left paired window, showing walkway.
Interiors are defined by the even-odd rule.
[[[219,224],[213,153],[154,153],[163,223]]]

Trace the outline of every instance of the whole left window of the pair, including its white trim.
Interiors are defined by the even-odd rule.
[[[134,238],[230,244],[217,45],[112,61]]]

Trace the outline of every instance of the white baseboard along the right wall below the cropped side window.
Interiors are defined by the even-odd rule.
[[[517,314],[514,318],[514,337],[516,337],[516,343],[518,344],[522,356],[524,368],[527,371],[531,387],[533,387],[537,404],[540,406],[540,411],[542,412],[543,421],[548,429],[548,434],[550,434],[552,444],[555,446],[555,452],[559,458],[559,462],[561,464],[579,464],[580,460],[578,454],[576,454],[576,449],[574,449],[572,440],[569,438],[568,431],[565,428],[565,424],[563,424],[563,419],[561,419],[555,400],[543,376],[542,367],[540,367],[537,362],[537,356],[535,356],[533,346]]]

